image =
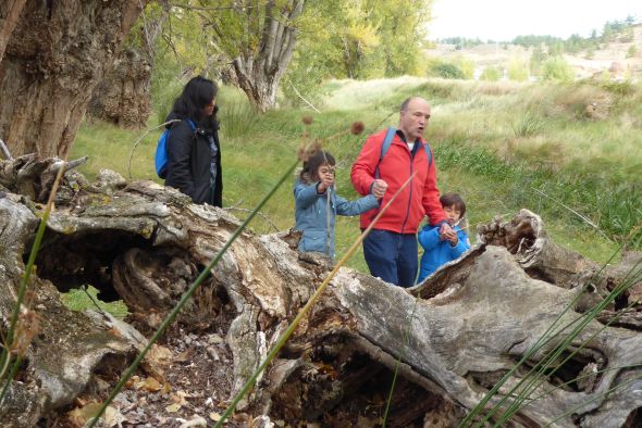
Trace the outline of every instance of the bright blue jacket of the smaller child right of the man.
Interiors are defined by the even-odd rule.
[[[419,265],[418,284],[435,272],[441,265],[458,259],[466,251],[470,250],[468,235],[459,226],[455,226],[453,230],[457,232],[457,238],[459,238],[455,247],[449,241],[440,240],[440,226],[425,225],[419,230],[417,238],[421,247],[423,247],[423,255]]]

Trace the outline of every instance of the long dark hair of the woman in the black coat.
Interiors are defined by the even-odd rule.
[[[196,76],[189,79],[183,92],[176,101],[172,111],[181,118],[189,118],[194,123],[207,129],[217,128],[215,111],[211,116],[203,116],[202,111],[217,97],[217,84],[202,76]]]

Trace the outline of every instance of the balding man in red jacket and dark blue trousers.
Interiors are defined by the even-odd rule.
[[[430,113],[430,104],[423,98],[406,99],[385,155],[381,158],[386,129],[368,137],[350,173],[359,193],[383,198],[381,207],[415,174],[363,240],[370,274],[400,287],[411,287],[417,278],[417,229],[423,217],[428,216],[431,225],[440,226],[442,236],[453,234],[440,203],[432,152],[423,141]],[[379,210],[361,214],[361,230],[370,226]]]

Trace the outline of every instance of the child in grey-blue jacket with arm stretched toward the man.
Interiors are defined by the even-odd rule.
[[[294,185],[296,229],[304,232],[298,247],[299,251],[320,252],[332,259],[334,259],[336,215],[358,215],[378,206],[373,194],[355,201],[348,201],[336,194],[334,165],[335,160],[332,154],[319,150],[304,163],[304,169]],[[328,198],[330,198],[330,205]],[[328,206],[330,206],[330,218]]]

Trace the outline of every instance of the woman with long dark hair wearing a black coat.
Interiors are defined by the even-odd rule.
[[[165,186],[174,187],[194,203],[223,205],[221,147],[215,105],[217,85],[205,77],[192,78],[174,102],[168,125]]]

